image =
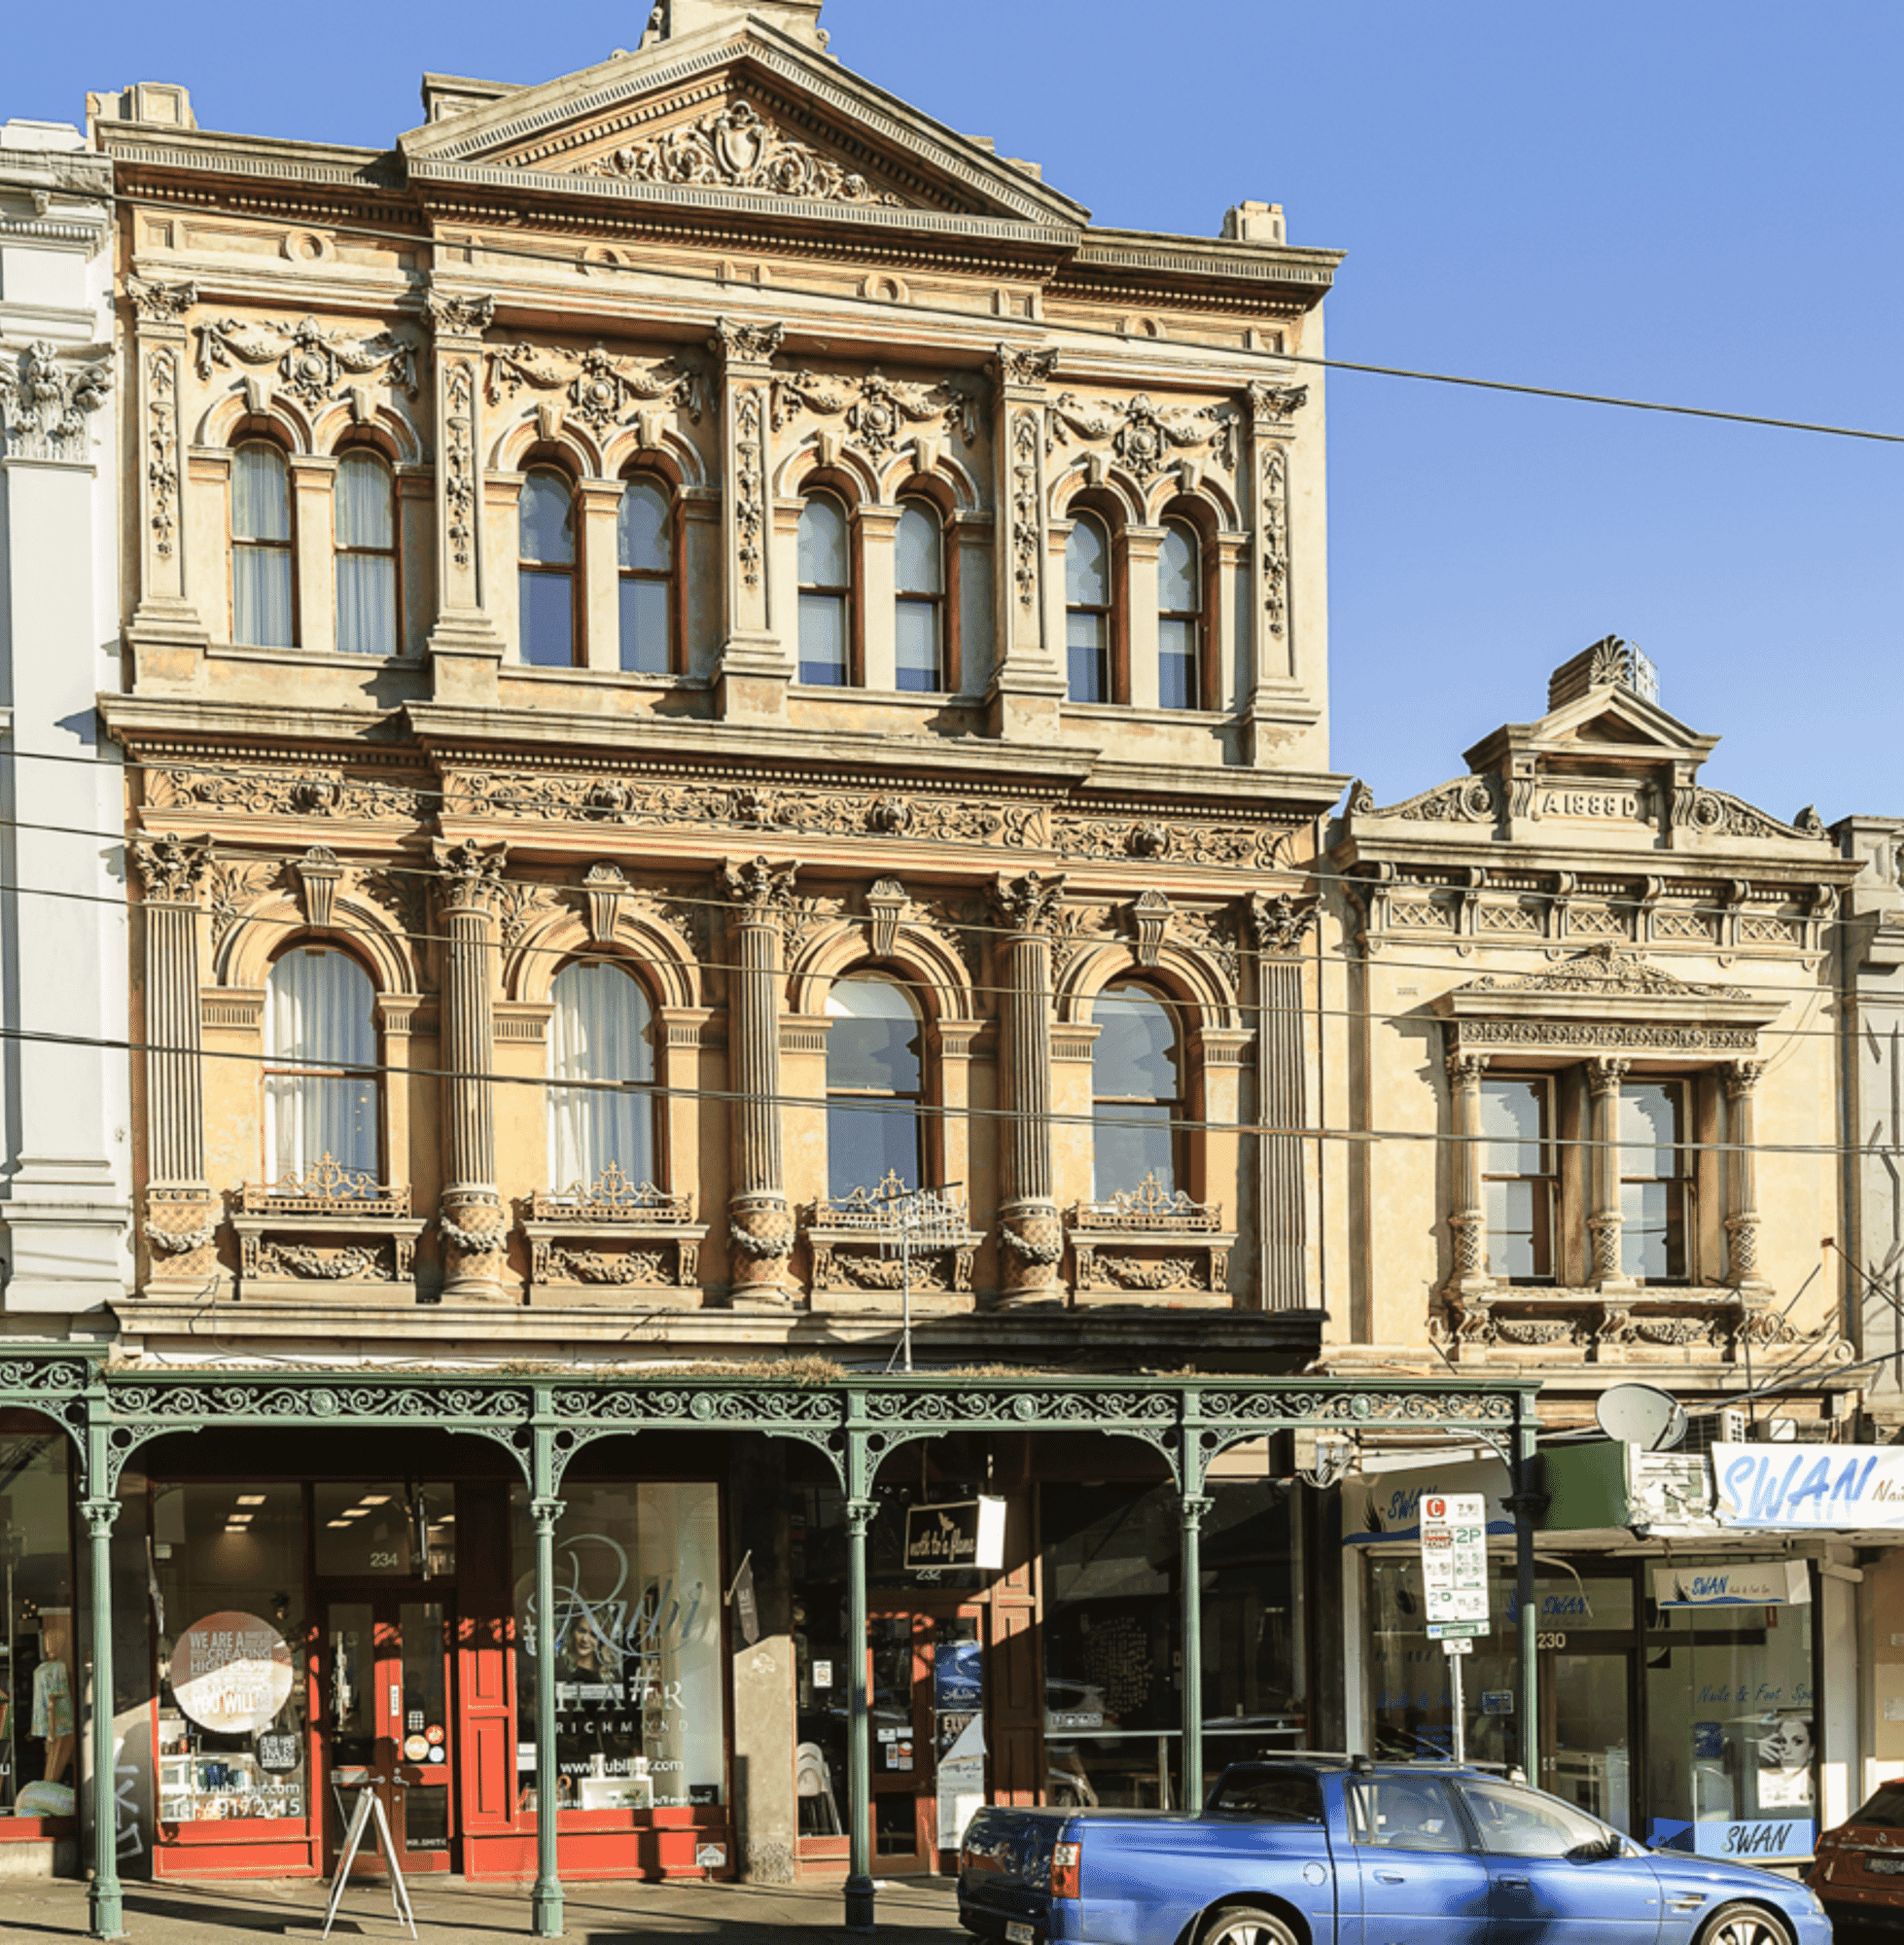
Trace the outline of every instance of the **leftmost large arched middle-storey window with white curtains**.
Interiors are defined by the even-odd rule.
[[[377,1029],[370,974],[300,945],[270,969],[264,1006],[264,1169],[307,1175],[329,1155],[377,1177]]]

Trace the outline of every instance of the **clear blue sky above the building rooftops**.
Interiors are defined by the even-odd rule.
[[[200,124],[387,144],[434,68],[539,82],[620,8],[16,6],[0,115],[185,82]],[[852,68],[1099,222],[1241,198],[1348,251],[1338,358],[1904,432],[1904,6],[829,0]],[[1616,632],[1789,817],[1904,813],[1904,445],[1336,373],[1334,766],[1391,801]]]

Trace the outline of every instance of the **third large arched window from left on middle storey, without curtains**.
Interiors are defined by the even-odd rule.
[[[854,972],[827,994],[827,1192],[877,1188],[897,1175],[920,1188],[924,1033],[906,990]]]

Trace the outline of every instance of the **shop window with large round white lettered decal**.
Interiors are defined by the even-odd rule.
[[[159,1819],[303,1819],[303,1488],[159,1486]]]

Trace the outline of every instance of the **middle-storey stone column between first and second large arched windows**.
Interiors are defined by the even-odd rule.
[[[436,846],[443,904],[443,1299],[502,1297],[508,1218],[496,1192],[494,910],[508,846]]]

